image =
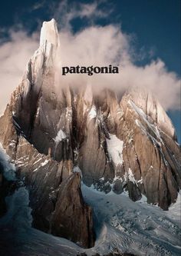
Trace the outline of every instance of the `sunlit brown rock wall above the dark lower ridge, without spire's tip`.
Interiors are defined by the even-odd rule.
[[[139,89],[121,97],[108,89],[97,95],[91,85],[77,90],[62,87],[56,93],[53,56],[58,45],[51,48],[52,52],[44,48],[46,61],[40,62],[40,49],[31,58],[0,118],[0,140],[8,155],[15,159],[21,135],[41,154],[78,165],[86,185],[106,193],[113,188],[117,194],[127,188],[133,201],[144,194],[148,203],[168,209],[181,186],[180,148],[159,102]],[[113,138],[116,142],[111,143],[119,142],[118,163]]]

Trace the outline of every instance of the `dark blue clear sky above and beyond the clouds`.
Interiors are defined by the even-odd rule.
[[[120,26],[131,37],[135,65],[144,66],[160,58],[167,71],[174,71],[180,78],[180,3],[179,0],[6,1],[0,9],[1,44],[11,39],[9,29],[31,35],[39,31],[44,20],[51,18],[56,18],[62,29],[70,17],[67,13],[74,12],[68,19],[72,33],[91,25]],[[82,15],[79,10],[83,5],[96,8],[91,15]],[[168,113],[180,141],[180,112]]]

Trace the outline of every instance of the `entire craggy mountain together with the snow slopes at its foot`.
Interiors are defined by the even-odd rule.
[[[178,255],[180,148],[166,112],[139,88],[56,84],[59,46],[56,22],[44,22],[0,117],[3,197],[6,179],[23,181],[0,219],[2,253],[8,241],[15,255]]]

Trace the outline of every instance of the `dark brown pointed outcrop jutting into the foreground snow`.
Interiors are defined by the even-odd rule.
[[[62,182],[51,228],[53,234],[77,241],[82,247],[94,246],[91,208],[84,204],[79,173],[71,174]]]

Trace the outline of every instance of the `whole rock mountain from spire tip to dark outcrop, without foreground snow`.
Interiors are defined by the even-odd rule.
[[[57,85],[59,51],[56,23],[44,22],[40,47],[0,118],[0,141],[25,178],[35,227],[91,247],[92,213],[75,167],[88,186],[126,190],[133,201],[144,194],[166,210],[180,188],[180,148],[166,112],[147,91]]]

